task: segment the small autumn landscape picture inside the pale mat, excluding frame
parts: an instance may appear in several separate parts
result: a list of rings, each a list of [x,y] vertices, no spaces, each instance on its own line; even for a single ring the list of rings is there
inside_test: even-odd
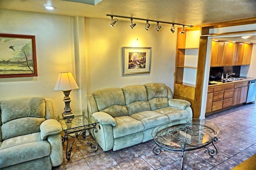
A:
[[[146,67],[145,52],[129,52],[128,69],[144,69]]]

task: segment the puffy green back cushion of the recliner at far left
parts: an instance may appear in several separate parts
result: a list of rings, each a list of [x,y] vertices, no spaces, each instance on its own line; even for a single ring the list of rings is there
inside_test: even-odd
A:
[[[2,140],[40,132],[45,121],[45,99],[20,98],[0,102]]]

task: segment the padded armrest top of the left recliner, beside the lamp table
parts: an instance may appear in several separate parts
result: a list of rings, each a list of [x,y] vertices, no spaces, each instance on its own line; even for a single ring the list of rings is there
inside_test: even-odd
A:
[[[40,135],[42,140],[46,140],[47,136],[58,134],[61,131],[61,125],[55,119],[48,119],[40,125]]]

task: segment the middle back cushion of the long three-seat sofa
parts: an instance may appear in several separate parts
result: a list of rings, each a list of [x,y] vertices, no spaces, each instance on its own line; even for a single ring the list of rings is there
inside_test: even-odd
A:
[[[125,104],[129,115],[142,111],[150,111],[145,86],[132,85],[124,87],[122,90],[124,92]]]

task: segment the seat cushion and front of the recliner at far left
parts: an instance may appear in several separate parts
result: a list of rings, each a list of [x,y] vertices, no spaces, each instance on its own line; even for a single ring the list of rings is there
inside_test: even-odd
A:
[[[6,139],[0,147],[0,168],[50,155],[50,144],[40,132]]]

